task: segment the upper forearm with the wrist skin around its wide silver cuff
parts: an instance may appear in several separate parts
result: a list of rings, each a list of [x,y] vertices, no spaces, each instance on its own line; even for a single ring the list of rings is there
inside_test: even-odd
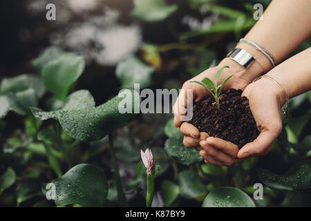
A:
[[[263,21],[259,20],[245,39],[252,40],[268,50],[276,63],[279,63],[311,35],[310,23],[311,1],[274,0],[265,10]],[[225,58],[220,62],[220,66],[232,67],[234,74],[241,79],[250,82],[272,68],[269,59],[253,46],[241,43],[236,48],[247,50],[256,62],[243,70],[235,61]]]

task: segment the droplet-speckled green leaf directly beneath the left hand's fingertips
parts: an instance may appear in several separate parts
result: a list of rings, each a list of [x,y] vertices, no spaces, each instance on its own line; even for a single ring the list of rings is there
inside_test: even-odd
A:
[[[169,157],[173,157],[180,164],[186,166],[203,160],[196,149],[187,148],[182,144],[182,138],[169,138],[164,144],[164,151]]]

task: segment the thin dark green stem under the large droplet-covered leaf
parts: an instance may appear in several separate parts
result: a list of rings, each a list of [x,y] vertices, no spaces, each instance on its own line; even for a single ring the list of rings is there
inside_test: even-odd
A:
[[[113,162],[113,171],[115,172],[115,184],[117,184],[117,198],[119,199],[120,206],[128,207],[129,203],[126,200],[126,196],[123,191],[123,186],[119,173],[119,166],[117,165],[117,160],[115,158],[112,133],[109,133],[108,137],[109,137],[109,151],[111,154],[111,160]]]

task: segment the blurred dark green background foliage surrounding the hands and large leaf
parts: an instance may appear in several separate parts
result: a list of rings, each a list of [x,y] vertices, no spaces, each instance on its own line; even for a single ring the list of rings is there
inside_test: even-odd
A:
[[[46,21],[47,3],[55,3],[57,21]],[[255,23],[254,3],[266,8],[270,1],[2,1],[0,205],[55,206],[41,186],[82,163],[106,175],[102,180],[108,180],[109,191],[100,202],[119,205],[108,138],[77,142],[53,119],[35,118],[29,106],[56,111],[68,104],[68,94],[81,89],[91,93],[86,106],[99,106],[134,82],[152,90],[180,88],[234,48]],[[294,53],[310,45],[309,38]],[[73,62],[73,75],[50,78],[53,68],[68,68],[66,61]],[[196,151],[185,149],[172,115],[135,117],[114,137],[129,204],[144,205],[140,149],[151,148],[161,166],[153,206],[311,206],[310,105],[310,92],[291,99],[288,124],[272,151],[230,168],[203,164]],[[251,200],[258,182],[264,199]]]

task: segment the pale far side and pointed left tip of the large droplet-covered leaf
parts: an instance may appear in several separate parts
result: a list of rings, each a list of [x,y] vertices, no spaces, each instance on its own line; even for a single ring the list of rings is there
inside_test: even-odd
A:
[[[40,108],[30,108],[32,114],[41,119],[58,119],[64,111],[76,111],[92,108],[95,106],[93,96],[88,90],[77,90],[66,98],[64,106],[57,111],[42,111]]]

